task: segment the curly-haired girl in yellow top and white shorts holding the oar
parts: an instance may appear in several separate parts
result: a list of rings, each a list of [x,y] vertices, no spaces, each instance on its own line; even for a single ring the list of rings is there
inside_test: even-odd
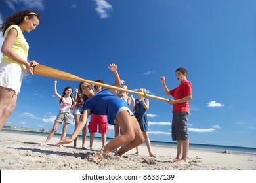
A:
[[[33,75],[33,66],[38,64],[34,60],[28,61],[29,46],[23,33],[35,30],[39,22],[37,12],[24,10],[5,18],[0,26],[5,39],[0,62],[0,130],[16,107],[25,72]]]

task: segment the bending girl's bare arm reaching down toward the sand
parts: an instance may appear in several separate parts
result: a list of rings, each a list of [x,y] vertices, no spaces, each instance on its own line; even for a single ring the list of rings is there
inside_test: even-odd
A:
[[[87,118],[90,114],[91,110],[83,110],[83,115],[81,120],[79,121],[77,127],[75,128],[75,131],[72,133],[71,137],[69,139],[63,139],[62,141],[59,141],[56,143],[56,145],[62,145],[62,144],[70,144],[74,139],[79,135],[79,133],[82,131],[83,127],[85,127],[85,124],[87,122]]]

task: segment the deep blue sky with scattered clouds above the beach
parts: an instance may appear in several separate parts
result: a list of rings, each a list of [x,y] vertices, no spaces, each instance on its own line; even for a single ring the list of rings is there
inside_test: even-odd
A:
[[[1,0],[0,18],[18,10],[41,15],[24,33],[28,59],[88,80],[113,84],[116,63],[130,90],[169,98],[175,69],[192,82],[190,143],[256,148],[256,1],[254,0]],[[0,38],[2,44],[3,37]],[[51,129],[58,114],[54,79],[26,75],[6,125]],[[79,82],[58,80],[58,92]],[[74,96],[74,95],[73,95]],[[150,99],[152,141],[171,141],[171,105]],[[114,137],[109,125],[108,137]],[[61,127],[58,128],[61,131]],[[68,133],[74,125],[68,126]]]

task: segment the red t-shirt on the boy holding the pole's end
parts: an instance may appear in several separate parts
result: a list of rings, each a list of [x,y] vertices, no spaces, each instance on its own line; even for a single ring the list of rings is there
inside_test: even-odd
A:
[[[170,95],[173,96],[173,99],[182,99],[187,95],[192,95],[192,84],[185,80],[181,82],[179,86],[169,91]],[[188,102],[186,103],[175,103],[173,104],[173,112],[189,112]]]

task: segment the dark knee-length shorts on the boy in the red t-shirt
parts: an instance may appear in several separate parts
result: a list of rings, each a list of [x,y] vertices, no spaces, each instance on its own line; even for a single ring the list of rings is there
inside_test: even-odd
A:
[[[173,112],[171,124],[171,138],[173,141],[188,140],[189,112]]]

